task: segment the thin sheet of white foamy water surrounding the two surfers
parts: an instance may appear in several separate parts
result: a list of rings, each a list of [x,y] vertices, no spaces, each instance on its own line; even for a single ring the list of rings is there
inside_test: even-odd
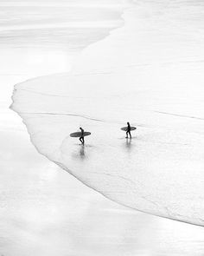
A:
[[[203,225],[203,10],[136,1],[69,74],[16,85],[12,108],[35,148],[124,206]],[[69,136],[80,126],[92,132],[84,147]]]

